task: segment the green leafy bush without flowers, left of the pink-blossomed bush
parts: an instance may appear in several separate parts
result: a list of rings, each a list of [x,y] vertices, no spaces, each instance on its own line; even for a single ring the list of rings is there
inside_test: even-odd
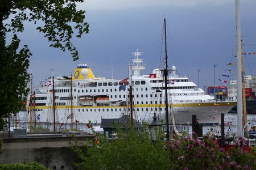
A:
[[[81,163],[77,169],[170,169],[170,156],[163,149],[163,143],[152,145],[148,129],[136,131],[134,128],[124,132],[117,129],[118,139],[100,136],[100,143],[94,147],[74,147]],[[158,163],[156,166],[155,163]]]

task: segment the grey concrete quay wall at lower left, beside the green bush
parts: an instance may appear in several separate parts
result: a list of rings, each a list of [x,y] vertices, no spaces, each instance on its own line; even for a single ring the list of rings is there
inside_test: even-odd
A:
[[[79,146],[88,145],[93,135],[76,137]],[[73,169],[77,155],[69,148],[73,137],[3,138],[0,163],[38,162],[51,169]]]

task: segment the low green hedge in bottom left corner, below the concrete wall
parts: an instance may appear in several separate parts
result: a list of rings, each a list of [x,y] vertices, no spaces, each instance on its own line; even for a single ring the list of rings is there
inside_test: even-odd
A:
[[[0,164],[0,169],[3,170],[44,170],[46,167],[44,167],[42,164],[39,163],[22,163],[22,164]]]

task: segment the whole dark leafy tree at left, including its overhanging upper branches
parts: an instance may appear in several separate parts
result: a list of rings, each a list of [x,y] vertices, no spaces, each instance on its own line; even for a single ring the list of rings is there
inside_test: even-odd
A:
[[[23,22],[40,25],[36,29],[51,42],[49,46],[69,50],[73,61],[79,53],[71,39],[89,32],[84,22],[85,11],[76,10],[83,0],[0,0],[0,118],[17,113],[22,105],[22,95],[27,95],[29,76],[27,69],[32,56],[27,45],[20,47],[17,33],[23,32]],[[76,31],[76,32],[74,32]],[[6,45],[6,35],[12,35]],[[2,127],[2,126],[1,126]]]

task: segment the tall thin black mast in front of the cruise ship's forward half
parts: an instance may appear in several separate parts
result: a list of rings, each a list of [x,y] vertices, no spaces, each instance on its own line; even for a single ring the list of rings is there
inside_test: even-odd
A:
[[[165,91],[165,104],[166,104],[166,138],[167,141],[170,139],[170,133],[169,133],[169,116],[168,116],[168,91],[167,91],[167,75],[168,75],[168,66],[167,66],[167,43],[166,43],[166,18],[164,18],[164,42],[166,47],[166,58],[164,60],[164,87],[166,88]]]

